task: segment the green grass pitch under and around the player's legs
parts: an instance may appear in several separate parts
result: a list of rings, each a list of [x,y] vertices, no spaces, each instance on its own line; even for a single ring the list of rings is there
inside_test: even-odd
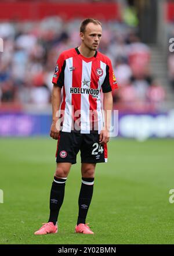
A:
[[[96,167],[86,221],[94,235],[75,234],[80,159],[66,183],[59,233],[34,236],[48,221],[55,172],[51,138],[0,140],[0,244],[173,244],[174,140],[111,140],[108,163]]]

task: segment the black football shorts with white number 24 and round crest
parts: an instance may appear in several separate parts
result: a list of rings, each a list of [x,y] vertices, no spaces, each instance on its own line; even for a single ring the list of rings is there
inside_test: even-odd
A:
[[[107,144],[99,144],[99,134],[67,133],[60,131],[57,141],[56,162],[76,163],[81,151],[81,163],[107,162]]]

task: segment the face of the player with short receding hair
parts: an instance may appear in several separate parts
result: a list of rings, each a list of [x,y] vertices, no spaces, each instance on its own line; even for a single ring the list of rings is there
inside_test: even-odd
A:
[[[99,24],[88,23],[85,32],[80,33],[84,45],[91,51],[96,51],[102,37],[102,27]]]

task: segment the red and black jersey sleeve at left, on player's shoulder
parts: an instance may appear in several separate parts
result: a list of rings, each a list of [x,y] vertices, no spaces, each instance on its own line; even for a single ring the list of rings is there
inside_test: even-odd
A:
[[[55,73],[53,74],[52,83],[57,84],[60,88],[64,85],[64,69],[66,66],[66,61],[64,55],[61,54],[57,59]]]

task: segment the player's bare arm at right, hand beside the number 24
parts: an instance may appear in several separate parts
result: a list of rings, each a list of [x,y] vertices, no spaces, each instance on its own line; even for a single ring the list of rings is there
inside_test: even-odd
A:
[[[100,132],[100,144],[107,143],[110,139],[110,122],[111,122],[111,110],[113,109],[113,95],[109,93],[103,94],[103,110],[104,110],[104,127]]]

